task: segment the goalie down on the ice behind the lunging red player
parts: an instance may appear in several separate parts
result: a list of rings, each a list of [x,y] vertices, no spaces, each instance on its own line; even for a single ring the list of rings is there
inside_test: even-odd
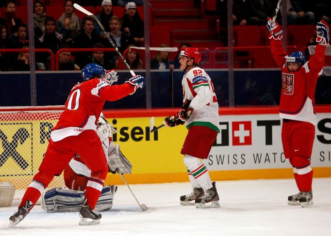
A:
[[[112,141],[112,134],[116,130],[100,115],[97,133],[102,142],[110,172],[116,171],[124,174],[131,173],[132,165]],[[48,190],[42,197],[42,207],[47,212],[79,211],[82,206],[82,196],[85,194],[86,185],[91,170],[87,168],[78,155],[73,157],[64,170],[66,188]],[[113,205],[114,194],[117,186],[104,186],[98,199],[95,210],[110,209]]]

